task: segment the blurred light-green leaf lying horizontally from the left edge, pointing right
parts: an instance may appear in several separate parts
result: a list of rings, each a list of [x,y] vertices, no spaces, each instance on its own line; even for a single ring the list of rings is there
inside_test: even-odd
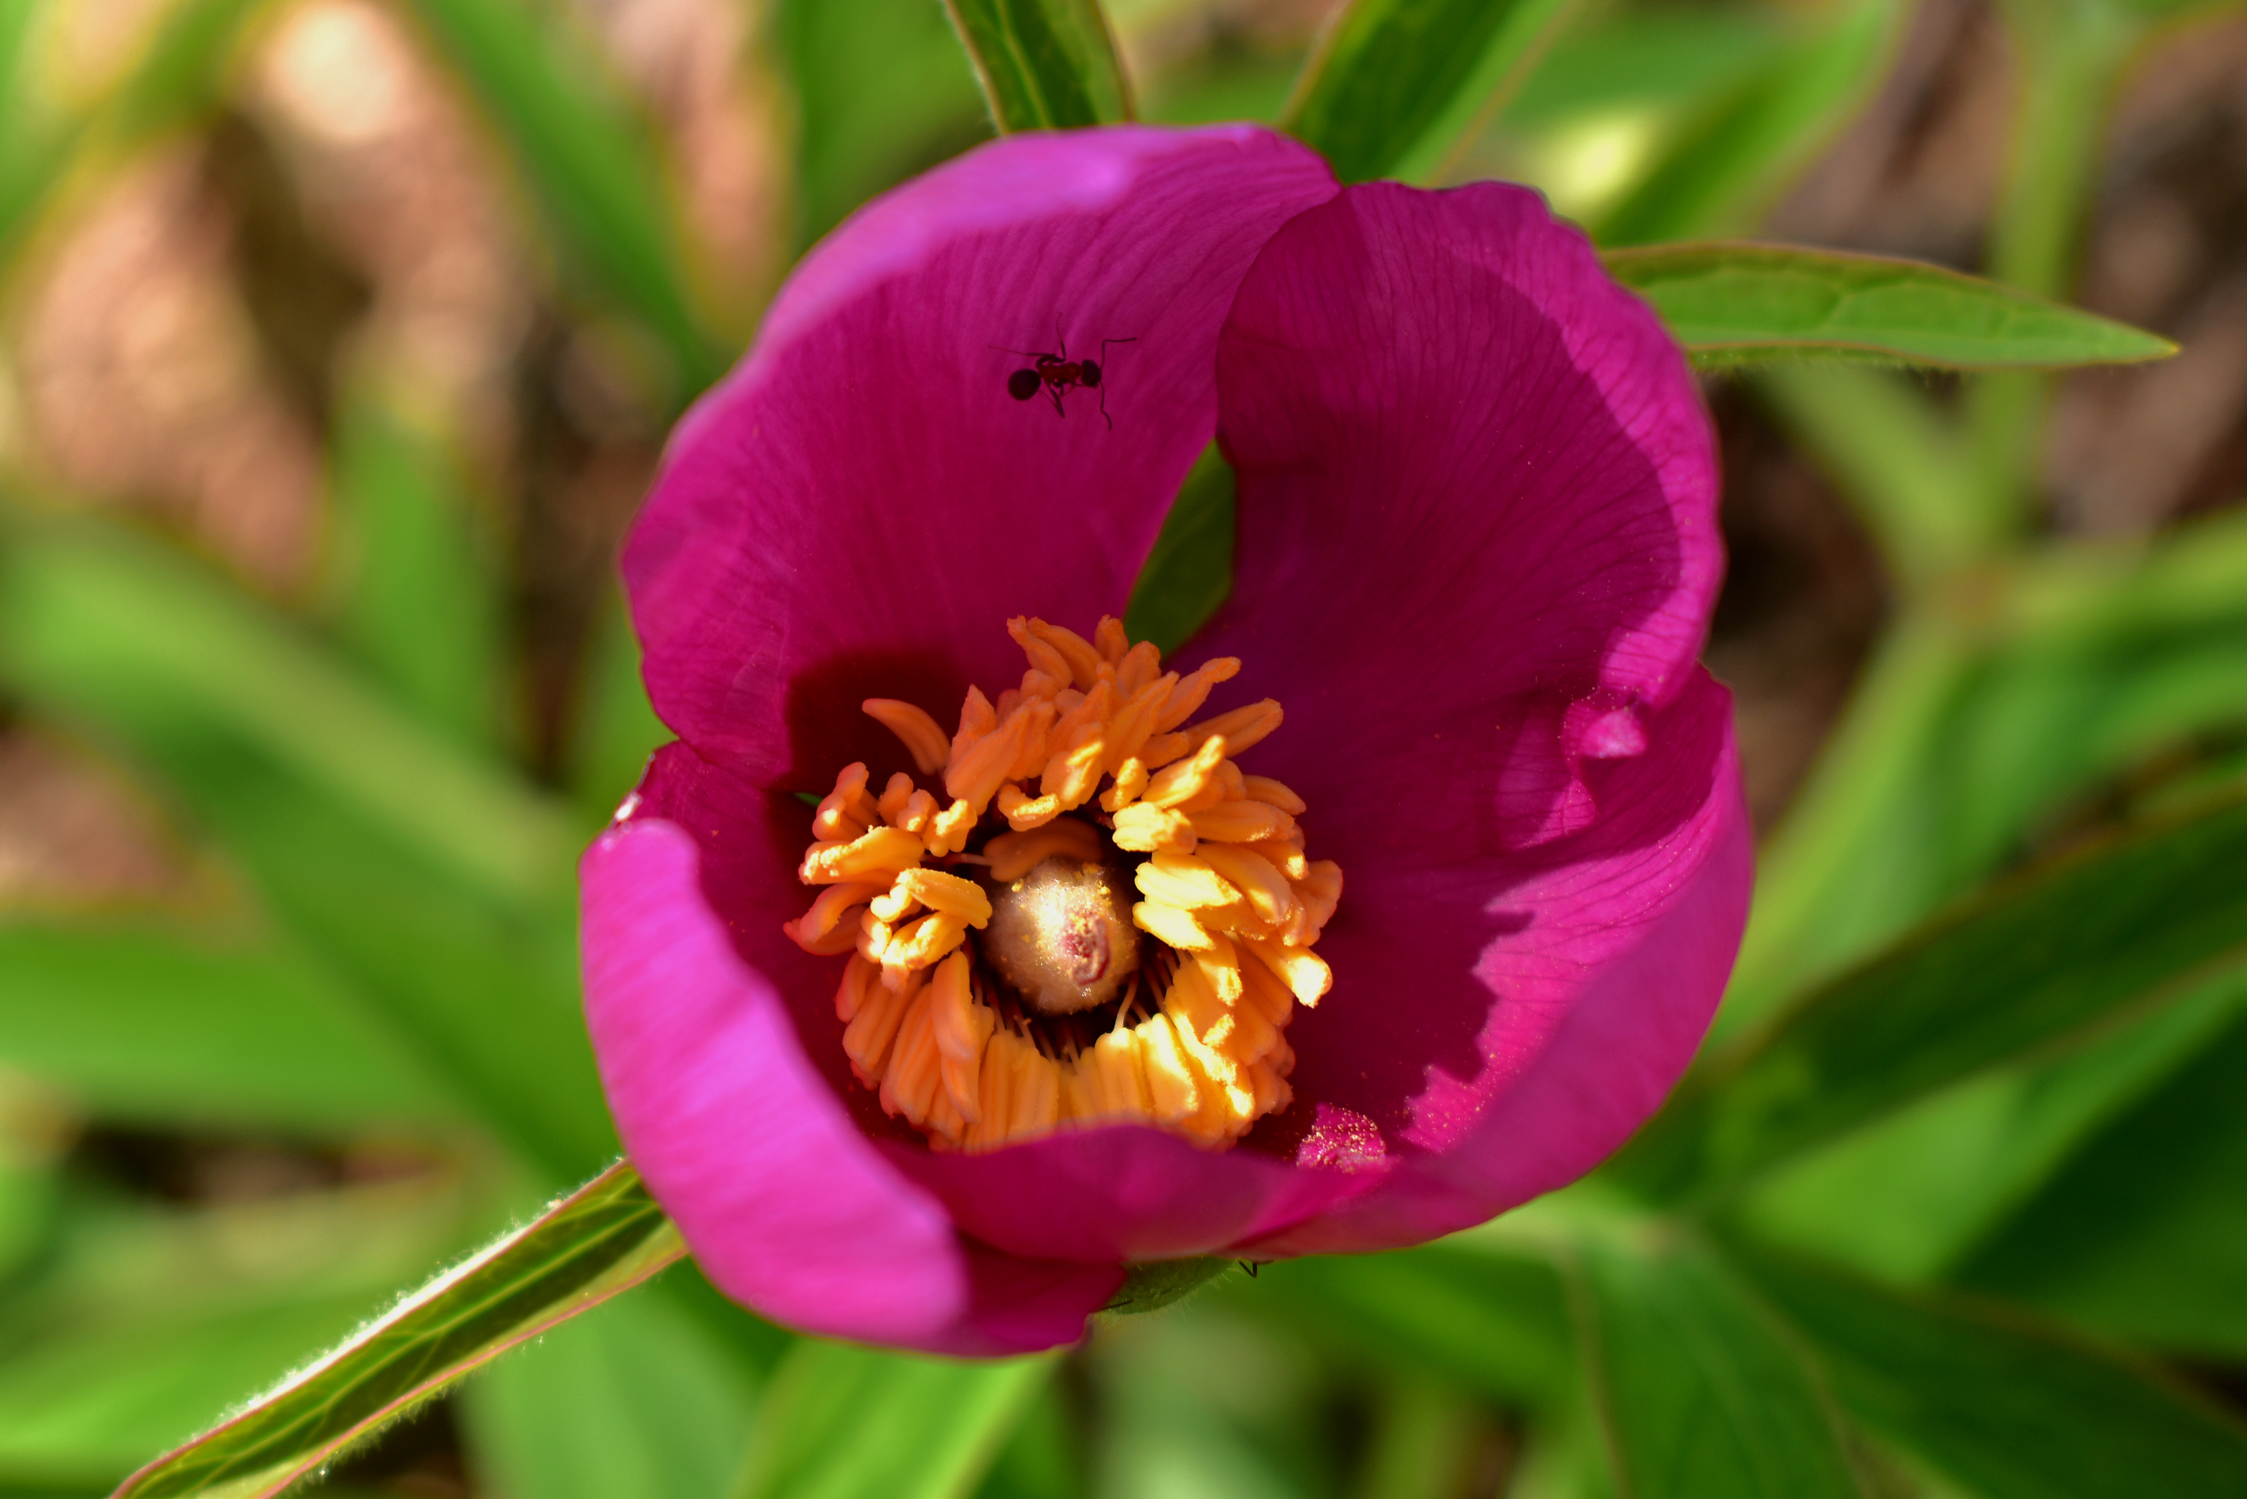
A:
[[[157,926],[0,926],[0,1068],[103,1119],[348,1128],[461,1119],[312,964]]]

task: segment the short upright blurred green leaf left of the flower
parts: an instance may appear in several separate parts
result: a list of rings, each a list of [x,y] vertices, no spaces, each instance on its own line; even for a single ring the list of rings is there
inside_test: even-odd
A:
[[[339,632],[434,728],[490,748],[503,699],[499,596],[461,474],[434,434],[369,393],[337,427]]]

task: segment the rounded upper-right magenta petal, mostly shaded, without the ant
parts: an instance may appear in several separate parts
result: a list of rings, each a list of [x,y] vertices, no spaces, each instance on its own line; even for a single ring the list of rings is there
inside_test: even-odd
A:
[[[1297,216],[1218,387],[1240,472],[1218,634],[1301,683],[1290,724],[1321,692],[1438,730],[1427,692],[1609,715],[1685,688],[1723,573],[1714,436],[1661,321],[1537,193],[1375,182]]]

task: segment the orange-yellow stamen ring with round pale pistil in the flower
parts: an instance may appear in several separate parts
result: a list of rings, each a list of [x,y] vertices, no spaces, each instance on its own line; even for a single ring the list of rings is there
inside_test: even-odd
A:
[[[1022,685],[968,688],[948,739],[867,699],[946,800],[845,766],[798,870],[825,890],[784,930],[849,953],[852,1072],[939,1151],[1097,1124],[1229,1146],[1288,1106],[1281,1032],[1332,984],[1312,944],[1341,870],[1303,856],[1294,791],[1234,764],[1281,706],[1186,724],[1240,661],[1164,672],[1112,618],[1007,632]]]

